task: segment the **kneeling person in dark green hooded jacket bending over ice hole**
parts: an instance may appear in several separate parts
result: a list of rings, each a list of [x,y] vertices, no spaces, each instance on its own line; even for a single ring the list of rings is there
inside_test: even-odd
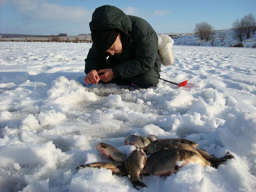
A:
[[[159,82],[158,38],[147,21],[104,5],[95,9],[89,25],[93,44],[85,59],[86,84],[148,88]]]

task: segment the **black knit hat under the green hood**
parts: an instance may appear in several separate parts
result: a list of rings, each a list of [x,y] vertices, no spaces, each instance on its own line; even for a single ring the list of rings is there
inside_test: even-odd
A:
[[[95,48],[100,52],[107,51],[115,43],[118,32],[118,29],[93,30],[91,36]]]

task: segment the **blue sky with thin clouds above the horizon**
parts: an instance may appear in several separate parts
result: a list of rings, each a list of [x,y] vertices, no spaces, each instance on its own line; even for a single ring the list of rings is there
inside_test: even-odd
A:
[[[0,0],[0,33],[90,33],[93,11],[105,4],[147,20],[157,33],[190,33],[201,21],[228,29],[234,20],[256,13],[256,0]]]

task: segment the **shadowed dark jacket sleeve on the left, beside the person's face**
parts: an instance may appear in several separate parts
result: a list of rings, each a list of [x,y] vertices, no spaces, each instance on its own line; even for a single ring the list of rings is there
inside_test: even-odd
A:
[[[92,69],[96,71],[102,69],[102,64],[106,61],[107,57],[108,55],[106,53],[97,51],[92,44],[92,48],[89,50],[87,58],[84,60],[84,72],[88,74]]]

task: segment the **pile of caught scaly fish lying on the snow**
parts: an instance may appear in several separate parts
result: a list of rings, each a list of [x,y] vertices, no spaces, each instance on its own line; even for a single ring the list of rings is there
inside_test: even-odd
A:
[[[137,189],[146,187],[141,181],[141,175],[170,175],[176,173],[189,162],[212,166],[217,168],[227,159],[234,158],[229,152],[223,157],[209,155],[194,141],[175,138],[159,139],[155,135],[148,137],[141,135],[129,135],[124,138],[126,145],[134,145],[137,150],[128,156],[106,143],[98,143],[95,148],[113,162],[95,162],[83,164],[76,169],[84,167],[107,168],[112,173],[120,173],[129,176],[133,186]]]

